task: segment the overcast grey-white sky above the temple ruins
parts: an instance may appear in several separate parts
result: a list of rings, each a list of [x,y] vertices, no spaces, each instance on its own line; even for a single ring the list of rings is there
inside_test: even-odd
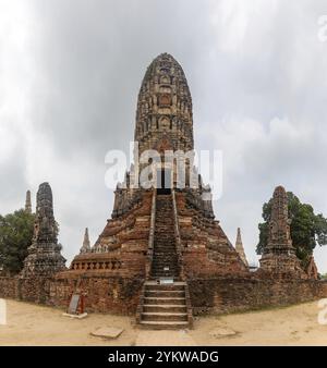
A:
[[[85,226],[95,242],[112,210],[105,155],[129,149],[146,66],[169,52],[196,148],[223,152],[215,211],[231,242],[241,226],[255,259],[278,184],[327,216],[324,14],[326,0],[0,0],[0,213],[48,181],[64,256]],[[315,255],[327,272],[327,246]]]

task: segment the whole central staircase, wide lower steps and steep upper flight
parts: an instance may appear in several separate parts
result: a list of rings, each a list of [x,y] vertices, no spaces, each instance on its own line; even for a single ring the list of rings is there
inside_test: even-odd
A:
[[[172,279],[162,283],[161,279]],[[162,281],[162,280],[161,280]],[[180,280],[171,194],[156,198],[154,253],[150,277],[144,283],[136,315],[142,328],[186,329],[193,326],[186,282]]]

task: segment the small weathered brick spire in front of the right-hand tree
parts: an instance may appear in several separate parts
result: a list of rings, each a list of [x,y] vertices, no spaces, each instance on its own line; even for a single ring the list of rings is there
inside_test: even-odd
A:
[[[288,216],[288,196],[282,186],[275,188],[268,225],[268,242],[264,247],[261,269],[279,274],[305,278],[305,273],[295,255],[295,248],[292,245]]]

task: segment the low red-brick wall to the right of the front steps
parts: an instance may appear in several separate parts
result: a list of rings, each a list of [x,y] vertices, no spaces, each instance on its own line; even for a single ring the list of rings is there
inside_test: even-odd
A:
[[[256,278],[189,280],[194,315],[231,312],[327,297],[327,282]]]

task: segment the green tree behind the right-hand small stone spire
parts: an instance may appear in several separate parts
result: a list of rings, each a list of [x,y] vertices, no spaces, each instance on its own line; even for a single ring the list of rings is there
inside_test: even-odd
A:
[[[259,242],[257,254],[263,254],[268,242],[268,223],[271,214],[272,198],[263,206],[264,222],[258,224]],[[288,192],[289,218],[291,220],[291,237],[295,254],[303,268],[306,268],[316,245],[327,244],[327,219],[322,213],[315,214],[311,205],[302,204],[292,193]]]

